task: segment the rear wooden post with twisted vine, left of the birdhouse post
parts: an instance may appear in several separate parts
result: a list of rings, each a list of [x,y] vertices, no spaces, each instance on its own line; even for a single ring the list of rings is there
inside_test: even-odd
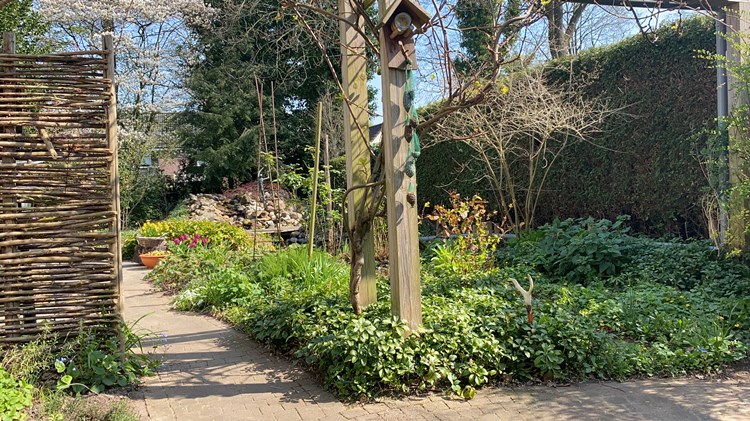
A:
[[[346,150],[346,186],[362,185],[370,179],[369,114],[367,106],[367,57],[365,39],[352,25],[362,23],[351,0],[339,0],[339,33],[341,36],[341,79],[349,108],[344,106],[344,147]],[[359,19],[359,21],[358,21]],[[365,189],[352,192],[348,204],[349,228],[355,226],[358,214],[370,204]],[[372,228],[372,227],[371,227]],[[359,286],[360,307],[377,301],[375,276],[375,237],[372,229],[362,249],[364,266]]]

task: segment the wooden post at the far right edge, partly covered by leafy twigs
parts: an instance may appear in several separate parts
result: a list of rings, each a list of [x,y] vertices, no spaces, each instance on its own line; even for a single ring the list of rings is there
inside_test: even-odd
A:
[[[727,34],[731,37],[733,34],[750,34],[750,4],[748,3],[729,3],[727,6],[726,22],[727,22]],[[746,42],[742,40],[741,42]],[[727,63],[739,64],[742,60],[740,52],[737,51],[731,43],[727,45]],[[745,105],[745,95],[742,89],[738,90],[735,86],[737,84],[736,78],[732,74],[727,75],[729,82],[728,92],[728,114],[732,115],[734,110]],[[733,142],[733,138],[739,136],[735,129],[729,130],[729,143]],[[743,174],[742,167],[744,162],[737,156],[737,153],[729,148],[729,183],[731,186],[736,186],[741,180],[745,179],[750,174]],[[750,201],[743,198],[741,192],[732,192],[729,197],[729,232],[728,241],[729,244],[738,249],[746,250],[750,246],[750,238],[745,232],[747,227],[747,216],[746,210],[750,209]]]

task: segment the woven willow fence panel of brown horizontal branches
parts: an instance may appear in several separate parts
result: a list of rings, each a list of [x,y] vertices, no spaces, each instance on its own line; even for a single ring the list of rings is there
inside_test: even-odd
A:
[[[0,54],[0,345],[117,327],[119,200],[105,49]]]

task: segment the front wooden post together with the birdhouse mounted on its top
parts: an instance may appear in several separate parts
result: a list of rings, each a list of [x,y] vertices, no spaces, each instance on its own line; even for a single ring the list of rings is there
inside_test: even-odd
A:
[[[378,10],[391,312],[416,330],[422,324],[422,301],[412,71],[417,66],[414,34],[425,29],[430,15],[416,0],[378,0]]]

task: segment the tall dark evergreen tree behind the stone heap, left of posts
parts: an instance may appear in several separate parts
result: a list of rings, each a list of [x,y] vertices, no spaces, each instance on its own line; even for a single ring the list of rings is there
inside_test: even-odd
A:
[[[211,27],[194,28],[196,45],[190,55],[195,64],[186,80],[194,111],[183,116],[189,125],[183,133],[183,151],[189,180],[218,190],[225,182],[233,187],[257,175],[258,147],[263,144],[259,142],[263,136],[259,87],[266,118],[272,103],[276,107],[276,134],[285,162],[300,164],[304,147],[314,138],[308,108],[334,85],[315,41],[281,2],[207,3],[218,12]],[[333,2],[326,4],[321,7]],[[335,20],[299,12],[319,33],[337,33]],[[328,45],[327,53],[333,63],[338,62],[337,43]]]

